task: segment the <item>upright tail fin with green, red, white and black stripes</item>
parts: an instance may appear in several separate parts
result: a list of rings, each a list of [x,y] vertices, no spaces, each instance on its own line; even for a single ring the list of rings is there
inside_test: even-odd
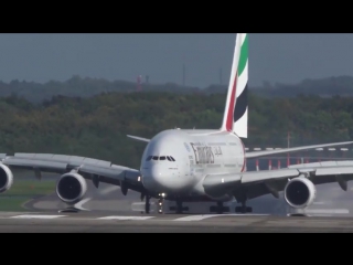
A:
[[[237,33],[231,80],[221,130],[247,138],[248,34]]]

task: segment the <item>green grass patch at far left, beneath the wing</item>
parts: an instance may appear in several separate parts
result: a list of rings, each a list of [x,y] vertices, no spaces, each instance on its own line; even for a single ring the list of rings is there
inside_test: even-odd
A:
[[[0,193],[0,211],[26,211],[22,204],[41,195],[55,191],[54,180],[15,179],[10,190]]]

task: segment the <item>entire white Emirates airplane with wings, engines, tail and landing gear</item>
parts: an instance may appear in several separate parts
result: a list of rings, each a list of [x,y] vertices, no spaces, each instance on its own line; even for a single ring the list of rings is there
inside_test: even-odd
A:
[[[246,159],[275,153],[351,145],[353,141],[303,146],[279,150],[246,152],[242,138],[247,138],[248,34],[237,33],[231,80],[223,121],[220,129],[168,129],[151,139],[128,136],[145,141],[140,169],[113,165],[109,161],[53,153],[1,155],[0,192],[13,183],[12,169],[56,172],[57,197],[68,205],[84,199],[87,180],[96,188],[99,182],[119,186],[126,195],[137,191],[150,212],[150,199],[176,203],[181,213],[183,202],[214,202],[211,211],[228,211],[223,203],[236,200],[235,212],[252,212],[246,202],[265,194],[279,198],[284,192],[291,208],[307,208],[315,198],[315,184],[336,182],[347,189],[353,179],[353,162],[329,161],[290,166],[278,170],[245,171]]]

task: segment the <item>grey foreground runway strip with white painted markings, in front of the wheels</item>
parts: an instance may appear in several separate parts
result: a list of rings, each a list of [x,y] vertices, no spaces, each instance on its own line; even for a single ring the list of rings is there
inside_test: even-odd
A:
[[[351,218],[270,215],[101,215],[0,213],[1,233],[304,233],[353,232]]]

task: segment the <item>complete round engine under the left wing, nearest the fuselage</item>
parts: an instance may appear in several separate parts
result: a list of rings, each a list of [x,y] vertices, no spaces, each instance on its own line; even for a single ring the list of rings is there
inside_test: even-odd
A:
[[[87,192],[87,182],[78,173],[63,174],[56,184],[57,197],[67,204],[75,204],[79,202]]]

